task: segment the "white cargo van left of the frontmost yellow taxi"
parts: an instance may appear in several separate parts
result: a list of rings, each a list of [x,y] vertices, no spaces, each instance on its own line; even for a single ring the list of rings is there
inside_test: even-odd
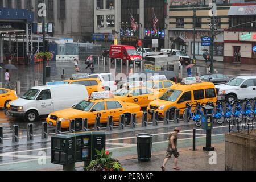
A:
[[[84,85],[37,86],[11,102],[9,113],[13,117],[35,122],[39,116],[68,109],[85,98],[88,98],[88,92]]]

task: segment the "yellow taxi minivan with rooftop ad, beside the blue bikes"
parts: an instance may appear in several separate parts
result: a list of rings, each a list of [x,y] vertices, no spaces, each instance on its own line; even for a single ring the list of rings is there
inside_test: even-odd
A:
[[[152,115],[158,111],[159,117],[164,117],[164,111],[170,110],[170,119],[174,119],[175,109],[183,114],[186,104],[189,105],[216,102],[217,93],[213,83],[201,82],[199,77],[184,78],[181,84],[172,85],[158,100],[150,102],[147,113]],[[192,107],[192,111],[195,108]]]

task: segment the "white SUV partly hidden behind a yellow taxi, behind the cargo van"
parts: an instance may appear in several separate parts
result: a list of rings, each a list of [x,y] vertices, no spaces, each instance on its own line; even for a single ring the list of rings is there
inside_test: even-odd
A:
[[[104,89],[107,91],[115,91],[117,90],[117,82],[115,81],[114,76],[111,73],[95,73],[95,74],[89,74],[90,78],[98,78],[102,85],[104,86]]]

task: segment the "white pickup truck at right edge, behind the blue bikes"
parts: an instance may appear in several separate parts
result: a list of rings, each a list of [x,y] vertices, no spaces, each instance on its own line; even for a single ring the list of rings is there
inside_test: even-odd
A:
[[[238,76],[226,82],[216,85],[218,100],[229,101],[234,104],[236,99],[256,97],[256,76]]]

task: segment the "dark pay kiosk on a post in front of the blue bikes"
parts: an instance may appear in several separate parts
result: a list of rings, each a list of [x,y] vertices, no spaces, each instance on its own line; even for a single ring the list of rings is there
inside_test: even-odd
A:
[[[212,129],[213,129],[213,107],[209,105],[202,106],[204,115],[202,118],[202,129],[206,130],[206,146],[204,151],[214,151],[212,147]]]

